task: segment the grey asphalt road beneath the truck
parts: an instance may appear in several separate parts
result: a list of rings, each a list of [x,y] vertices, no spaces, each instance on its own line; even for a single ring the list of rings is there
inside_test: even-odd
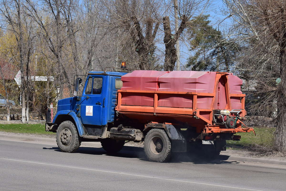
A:
[[[0,138],[0,190],[284,191],[285,180],[283,165],[194,164],[186,155],[153,163],[138,147],[124,146],[112,155],[87,146],[63,153],[53,143]]]

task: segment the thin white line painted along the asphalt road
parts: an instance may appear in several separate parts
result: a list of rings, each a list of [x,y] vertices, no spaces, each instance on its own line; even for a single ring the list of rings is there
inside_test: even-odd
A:
[[[40,163],[40,162],[32,162],[32,161],[23,161],[23,160],[15,160],[15,159],[7,159],[7,158],[1,158],[4,160],[11,160],[11,161],[18,161],[18,162],[27,162],[27,163],[34,163],[34,164],[43,164],[43,165],[50,165],[50,166],[59,166],[59,167],[65,167],[65,168],[76,168],[81,170],[93,170],[98,172],[108,172],[108,173],[114,173],[114,174],[125,174],[125,175],[131,175],[131,176],[139,176],[144,178],[155,178],[155,179],[161,179],[161,180],[171,180],[176,182],[186,182],[186,183],[193,183],[193,184],[202,184],[202,185],[208,185],[208,186],[219,186],[219,187],[225,187],[225,188],[236,188],[236,189],[242,189],[242,190],[254,190],[254,191],[263,191],[263,190],[255,190],[255,189],[249,189],[249,188],[240,188],[240,187],[233,187],[233,186],[223,186],[218,184],[207,184],[207,183],[201,183],[201,182],[191,182],[186,180],[176,180],[176,179],[169,179],[169,178],[160,178],[160,177],[154,177],[154,176],[144,176],[144,175],[138,175],[138,174],[129,174],[125,172],[114,172],[114,171],[107,171],[107,170],[97,170],[97,169],[90,169],[90,168],[80,168],[80,167],[74,167],[74,166],[63,166],[63,165],[57,165],[57,164],[47,164],[47,163]]]

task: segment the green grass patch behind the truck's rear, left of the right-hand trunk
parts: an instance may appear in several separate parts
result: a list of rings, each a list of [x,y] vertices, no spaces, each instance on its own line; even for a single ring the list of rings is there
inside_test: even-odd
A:
[[[236,133],[241,135],[240,141],[227,141],[227,146],[232,148],[266,148],[273,146],[273,135],[275,128],[270,127],[254,127],[256,136],[253,132],[250,133]]]

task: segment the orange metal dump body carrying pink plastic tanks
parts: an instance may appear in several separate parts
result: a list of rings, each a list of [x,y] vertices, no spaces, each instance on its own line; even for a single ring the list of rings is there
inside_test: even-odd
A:
[[[240,117],[246,115],[242,80],[232,73],[138,70],[122,76],[121,80],[123,87],[118,90],[116,111],[130,119],[144,124],[184,123],[196,127],[198,133],[253,131],[241,128],[239,120],[232,129],[214,123],[216,110],[235,109],[230,114],[234,118],[235,113]]]

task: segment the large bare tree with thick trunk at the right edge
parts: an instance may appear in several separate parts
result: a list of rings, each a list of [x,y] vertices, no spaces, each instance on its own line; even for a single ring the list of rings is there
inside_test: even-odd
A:
[[[274,149],[286,152],[286,2],[226,3],[235,13],[235,36],[247,45],[238,66],[242,74],[253,76],[259,98],[263,96],[257,104],[264,111],[277,102],[277,113],[272,112],[277,117]]]

